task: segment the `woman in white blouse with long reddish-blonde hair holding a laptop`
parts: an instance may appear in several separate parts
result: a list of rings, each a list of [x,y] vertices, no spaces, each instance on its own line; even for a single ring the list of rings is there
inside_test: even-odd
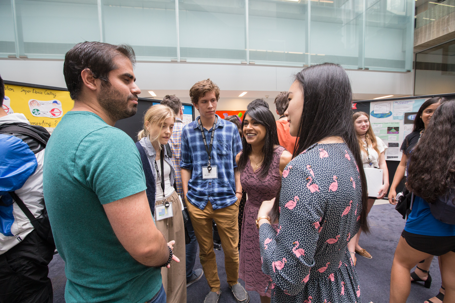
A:
[[[374,204],[374,200],[384,198],[389,189],[389,171],[385,163],[384,151],[387,149],[385,143],[374,135],[373,129],[369,123],[369,116],[365,112],[356,112],[353,115],[354,127],[359,139],[360,150],[362,152],[362,160],[364,168],[382,169],[383,185],[378,193],[368,193],[368,213]],[[355,253],[365,257],[373,258],[364,248],[359,245],[361,229],[354,237],[351,238],[348,244],[349,252],[354,257],[354,265],[357,261]]]

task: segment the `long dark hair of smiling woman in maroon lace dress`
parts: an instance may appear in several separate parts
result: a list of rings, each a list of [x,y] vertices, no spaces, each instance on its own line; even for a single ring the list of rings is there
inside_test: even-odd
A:
[[[262,162],[260,169],[260,178],[264,178],[268,174],[268,170],[270,169],[270,164],[272,164],[273,160],[273,151],[279,145],[278,142],[278,132],[277,132],[277,124],[275,122],[275,118],[273,117],[272,112],[264,106],[256,106],[251,109],[248,109],[245,114],[243,115],[243,121],[245,120],[246,115],[250,117],[250,119],[255,120],[261,125],[265,126],[267,129],[267,133],[265,134],[265,143],[262,148],[262,153],[264,155],[264,160]],[[238,169],[243,170],[247,165],[248,158],[251,154],[251,144],[247,143],[245,136],[242,138],[243,144],[243,152],[240,155],[240,159],[238,159]]]

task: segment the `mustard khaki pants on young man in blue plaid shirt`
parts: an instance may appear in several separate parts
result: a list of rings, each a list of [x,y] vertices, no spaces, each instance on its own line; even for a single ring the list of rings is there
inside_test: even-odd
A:
[[[231,206],[213,210],[212,204],[208,201],[204,210],[201,210],[187,202],[194,234],[199,243],[202,269],[212,292],[220,290],[217,261],[213,251],[212,220],[217,223],[221,239],[227,283],[229,286],[238,283],[238,204],[237,201]]]

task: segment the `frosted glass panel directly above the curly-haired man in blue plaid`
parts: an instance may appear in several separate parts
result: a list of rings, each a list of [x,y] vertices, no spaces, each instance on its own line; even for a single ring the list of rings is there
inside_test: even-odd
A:
[[[181,59],[246,60],[244,0],[179,1],[179,24]]]

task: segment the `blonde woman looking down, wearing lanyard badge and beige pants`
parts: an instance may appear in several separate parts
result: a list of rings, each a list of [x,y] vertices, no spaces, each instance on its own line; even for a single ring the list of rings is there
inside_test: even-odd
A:
[[[183,225],[183,204],[175,191],[174,167],[171,154],[165,145],[174,127],[174,111],[166,105],[150,107],[144,116],[144,128],[137,134],[137,149],[141,154],[142,167],[146,177],[147,198],[153,218],[166,241],[175,241],[173,253],[180,257],[180,263],[162,268],[162,282],[167,303],[187,302],[187,278],[185,266],[185,228]]]

